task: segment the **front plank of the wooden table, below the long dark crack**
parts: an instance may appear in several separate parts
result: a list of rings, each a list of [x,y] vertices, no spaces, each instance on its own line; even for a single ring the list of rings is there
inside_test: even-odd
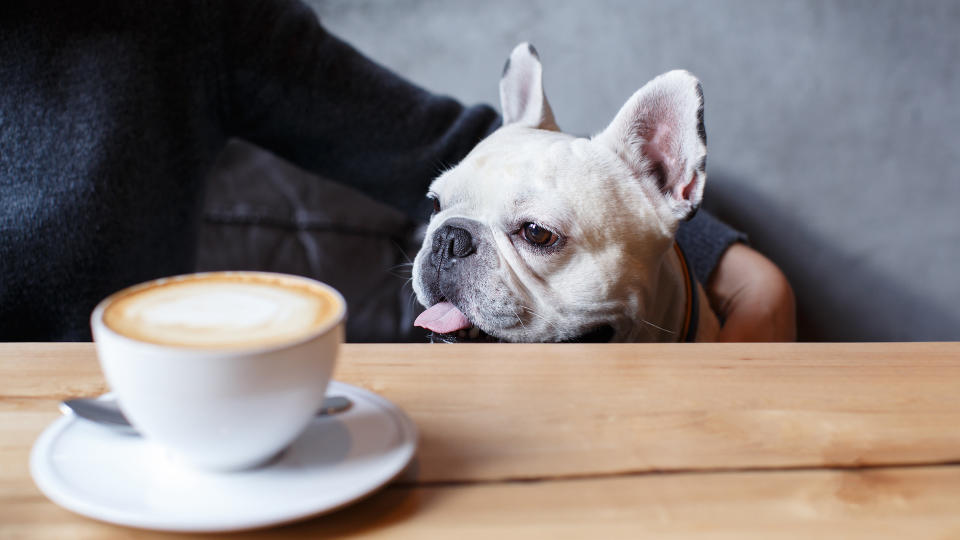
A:
[[[81,518],[39,497],[2,503],[5,540],[168,537]],[[957,467],[651,474],[388,487],[333,514],[231,537],[947,539],[960,537],[957,508]]]

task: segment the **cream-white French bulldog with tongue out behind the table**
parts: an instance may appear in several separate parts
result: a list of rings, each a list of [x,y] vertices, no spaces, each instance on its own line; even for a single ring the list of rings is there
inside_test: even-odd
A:
[[[522,43],[500,102],[503,126],[430,186],[415,324],[444,340],[714,339],[717,317],[674,240],[707,178],[699,81],[660,75],[606,129],[575,137],[557,127],[539,56]]]

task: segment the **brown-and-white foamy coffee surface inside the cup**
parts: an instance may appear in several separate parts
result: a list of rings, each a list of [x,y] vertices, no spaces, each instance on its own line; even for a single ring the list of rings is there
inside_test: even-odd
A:
[[[138,341],[242,348],[296,341],[319,330],[340,309],[338,298],[306,281],[216,273],[121,292],[104,310],[103,322]]]

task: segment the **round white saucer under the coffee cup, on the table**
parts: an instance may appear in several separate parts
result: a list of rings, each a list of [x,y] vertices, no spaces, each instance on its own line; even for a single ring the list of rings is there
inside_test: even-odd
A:
[[[237,473],[182,466],[138,436],[64,416],[33,446],[30,473],[60,506],[119,525],[222,532],[315,516],[392,480],[413,457],[413,422],[390,401],[344,383],[346,412],[314,420],[270,464]]]

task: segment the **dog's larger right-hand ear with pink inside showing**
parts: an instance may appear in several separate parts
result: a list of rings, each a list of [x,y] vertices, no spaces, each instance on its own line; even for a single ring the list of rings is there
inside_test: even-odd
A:
[[[707,180],[703,90],[696,77],[677,70],[648,82],[595,139],[639,178],[653,177],[678,219],[693,217]]]

